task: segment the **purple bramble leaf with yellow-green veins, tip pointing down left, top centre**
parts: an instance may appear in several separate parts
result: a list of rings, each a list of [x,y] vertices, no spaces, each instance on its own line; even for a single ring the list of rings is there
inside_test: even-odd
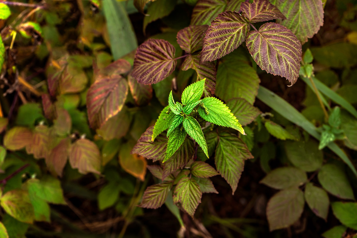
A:
[[[218,14],[211,26],[208,26],[203,39],[201,61],[213,61],[237,49],[246,39],[249,28],[249,24],[238,12],[225,11]]]

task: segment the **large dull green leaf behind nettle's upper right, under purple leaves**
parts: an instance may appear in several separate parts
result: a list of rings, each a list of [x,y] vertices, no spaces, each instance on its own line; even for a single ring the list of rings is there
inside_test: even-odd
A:
[[[219,61],[215,95],[223,101],[241,97],[253,105],[260,79],[240,47]],[[227,90],[229,89],[229,90]]]

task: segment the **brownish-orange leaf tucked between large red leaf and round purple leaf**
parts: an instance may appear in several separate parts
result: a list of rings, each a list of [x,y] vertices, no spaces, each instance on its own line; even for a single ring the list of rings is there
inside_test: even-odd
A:
[[[128,83],[131,95],[133,96],[136,105],[147,105],[152,98],[151,85],[138,83],[131,75],[128,75]]]

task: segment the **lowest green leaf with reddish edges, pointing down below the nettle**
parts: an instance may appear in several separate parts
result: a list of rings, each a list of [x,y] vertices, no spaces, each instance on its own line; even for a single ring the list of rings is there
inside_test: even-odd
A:
[[[202,192],[194,178],[183,177],[178,181],[174,190],[174,202],[180,203],[181,207],[191,217],[201,203]]]

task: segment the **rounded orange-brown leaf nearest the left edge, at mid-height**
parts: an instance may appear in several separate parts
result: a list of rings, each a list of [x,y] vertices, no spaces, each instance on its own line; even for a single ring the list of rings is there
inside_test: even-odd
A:
[[[32,142],[32,131],[26,127],[12,127],[4,136],[4,146],[8,150],[20,150]]]

